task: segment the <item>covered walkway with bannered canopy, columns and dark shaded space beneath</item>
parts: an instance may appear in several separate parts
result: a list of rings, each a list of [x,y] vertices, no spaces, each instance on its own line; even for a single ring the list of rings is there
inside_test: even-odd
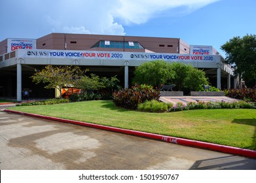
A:
[[[166,62],[181,62],[206,72],[212,86],[223,89],[236,88],[236,79],[229,65],[221,56],[194,56],[191,54],[139,53],[139,52],[96,52],[88,50],[16,50],[0,56],[0,97],[16,97],[22,101],[22,92],[28,90],[33,97],[54,95],[43,85],[35,86],[30,76],[35,69],[46,65],[77,65],[90,68],[97,75],[117,75],[124,88],[131,86],[134,68],[142,63],[162,59]],[[234,82],[231,82],[233,80]],[[224,87],[223,87],[224,86]]]

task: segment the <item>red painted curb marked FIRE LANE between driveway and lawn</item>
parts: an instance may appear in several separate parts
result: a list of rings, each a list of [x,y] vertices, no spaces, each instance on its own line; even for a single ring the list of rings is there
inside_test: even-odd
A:
[[[235,155],[239,155],[239,156],[245,156],[248,158],[256,158],[256,150],[247,150],[247,149],[236,148],[236,147],[232,147],[232,146],[224,146],[224,145],[212,144],[212,143],[208,143],[208,142],[194,141],[194,140],[189,140],[189,139],[182,139],[182,138],[177,138],[177,137],[158,135],[158,134],[154,134],[154,133],[146,133],[146,132],[135,131],[135,130],[130,130],[130,129],[121,129],[118,127],[109,127],[109,126],[105,126],[105,125],[90,124],[90,123],[86,123],[86,122],[79,122],[79,121],[75,121],[75,120],[66,120],[66,119],[62,119],[62,118],[43,116],[40,114],[31,114],[31,113],[20,112],[20,111],[15,111],[15,110],[5,109],[4,111],[12,112],[15,114],[23,114],[26,116],[31,116],[31,117],[36,117],[36,118],[43,118],[46,120],[54,120],[57,122],[64,122],[64,123],[68,123],[68,124],[76,124],[76,125],[82,125],[82,126],[86,126],[86,127],[93,127],[96,129],[114,131],[114,132],[118,132],[118,133],[124,133],[126,135],[135,135],[138,137],[146,137],[149,139],[156,139],[159,141],[170,142],[170,143],[180,144],[180,145],[184,145],[184,146],[192,146],[192,147],[196,147],[196,148],[215,150],[218,152],[235,154]]]

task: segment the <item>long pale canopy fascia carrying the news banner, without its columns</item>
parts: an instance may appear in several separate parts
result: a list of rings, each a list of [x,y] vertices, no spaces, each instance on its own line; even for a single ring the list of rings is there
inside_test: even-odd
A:
[[[161,59],[167,62],[180,61],[198,68],[217,68],[221,63],[221,56],[192,55],[192,54],[164,54],[141,52],[96,52],[74,50],[16,50],[16,61],[3,59],[0,68],[10,64],[23,63],[31,65],[130,65],[139,66],[147,61]],[[5,58],[10,58],[6,57]],[[11,63],[10,63],[10,62]]]

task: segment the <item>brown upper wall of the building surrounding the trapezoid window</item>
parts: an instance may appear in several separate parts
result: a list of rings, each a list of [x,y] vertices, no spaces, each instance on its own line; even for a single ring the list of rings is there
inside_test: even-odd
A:
[[[177,38],[161,38],[161,37],[134,37],[134,36],[118,36],[118,35],[86,35],[86,34],[64,34],[51,33],[37,39],[38,49],[64,50],[66,42],[66,50],[108,50],[122,52],[123,48],[92,48],[98,41],[132,41],[139,42],[146,50],[160,53],[175,53],[179,46],[180,39]],[[184,44],[185,42],[182,41]],[[189,45],[186,43],[186,45]],[[139,49],[125,49],[126,52],[145,52]],[[182,50],[184,54],[189,54]]]

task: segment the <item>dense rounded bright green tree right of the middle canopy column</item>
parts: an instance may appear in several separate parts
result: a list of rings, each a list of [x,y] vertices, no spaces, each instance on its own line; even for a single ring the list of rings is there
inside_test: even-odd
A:
[[[177,90],[195,90],[198,85],[208,84],[204,71],[184,63],[151,61],[143,63],[134,72],[133,84],[147,84],[160,87],[161,84],[175,84]]]

